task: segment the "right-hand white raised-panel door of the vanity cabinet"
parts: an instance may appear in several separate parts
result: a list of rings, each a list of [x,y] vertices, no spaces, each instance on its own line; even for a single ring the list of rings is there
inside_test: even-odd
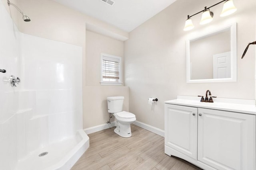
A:
[[[218,170],[255,170],[255,115],[202,108],[198,115],[200,162]]]

